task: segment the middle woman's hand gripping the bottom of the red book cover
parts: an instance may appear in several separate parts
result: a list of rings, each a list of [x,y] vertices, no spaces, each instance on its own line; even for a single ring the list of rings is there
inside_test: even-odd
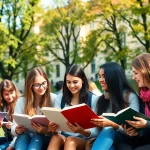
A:
[[[75,125],[73,125],[70,122],[67,122],[67,125],[74,133],[79,133],[84,136],[90,136],[90,134],[91,134],[90,130],[85,130],[78,123],[75,123]]]

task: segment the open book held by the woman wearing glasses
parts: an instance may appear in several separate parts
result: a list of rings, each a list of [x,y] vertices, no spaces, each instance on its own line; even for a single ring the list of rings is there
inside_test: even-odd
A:
[[[31,121],[48,126],[49,120],[44,115],[34,115],[32,117],[25,114],[13,114],[13,118],[18,125],[23,125],[29,132],[35,133],[31,126]]]

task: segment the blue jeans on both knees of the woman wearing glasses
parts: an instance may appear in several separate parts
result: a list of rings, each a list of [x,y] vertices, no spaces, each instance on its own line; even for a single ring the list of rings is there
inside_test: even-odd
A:
[[[43,136],[41,134],[34,134],[33,136],[29,133],[20,134],[15,142],[15,150],[41,150]]]

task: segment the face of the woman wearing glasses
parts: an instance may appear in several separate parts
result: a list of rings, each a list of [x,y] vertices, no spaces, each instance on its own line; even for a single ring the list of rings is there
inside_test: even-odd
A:
[[[47,89],[47,81],[43,76],[37,76],[34,79],[33,82],[33,91],[35,94],[42,96],[43,94],[45,94],[46,89]]]

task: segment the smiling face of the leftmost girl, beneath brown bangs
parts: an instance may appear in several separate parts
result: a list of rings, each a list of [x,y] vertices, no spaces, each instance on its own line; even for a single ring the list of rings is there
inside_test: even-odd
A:
[[[4,91],[3,93],[3,98],[7,103],[11,103],[15,100],[16,98],[16,92],[14,91]]]

